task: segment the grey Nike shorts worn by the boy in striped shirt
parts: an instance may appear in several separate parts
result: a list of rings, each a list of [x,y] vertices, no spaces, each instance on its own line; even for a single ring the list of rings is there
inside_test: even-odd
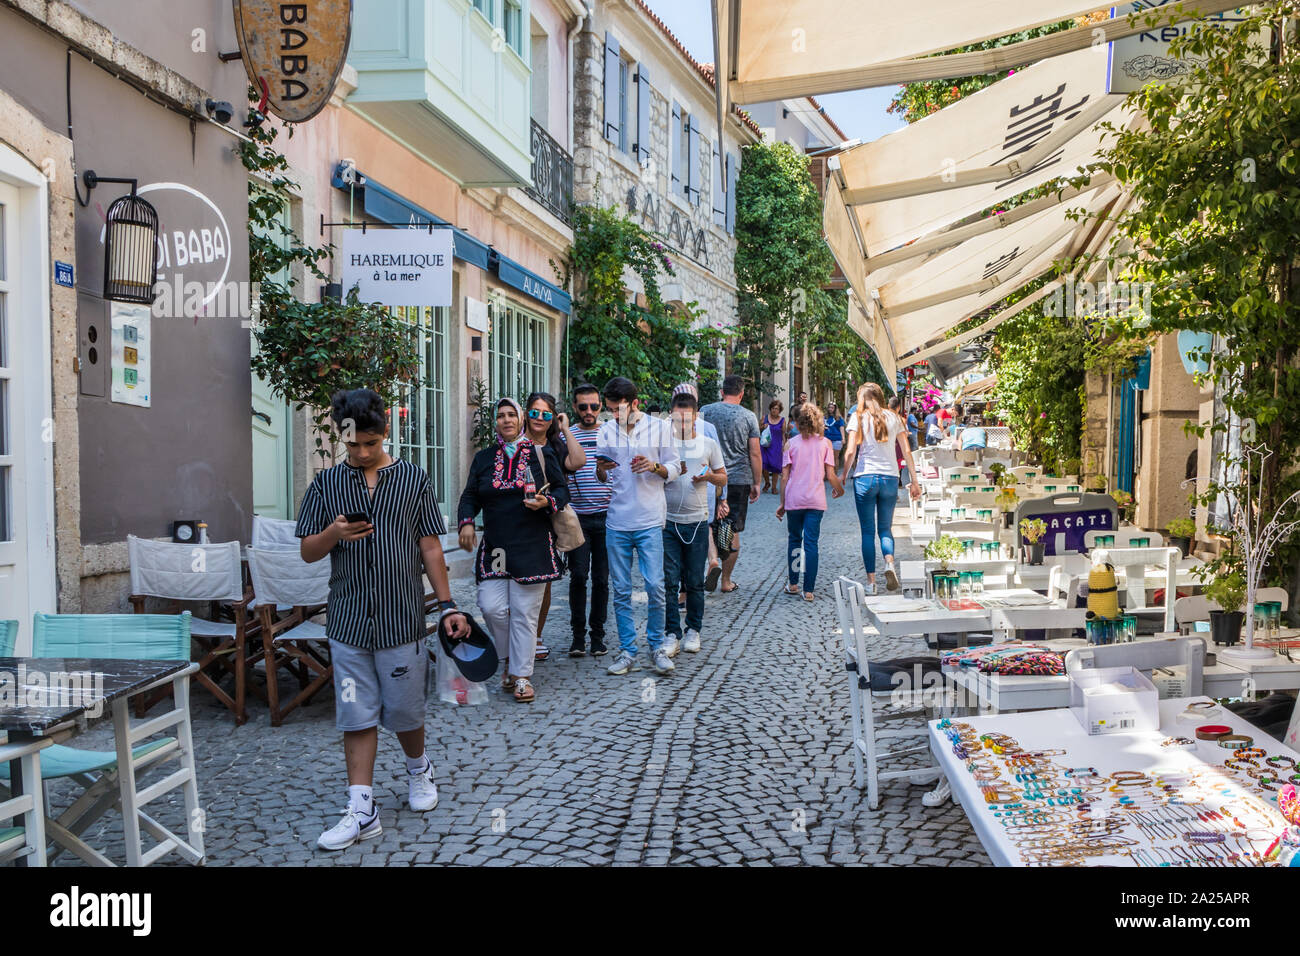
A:
[[[424,641],[384,650],[329,643],[334,662],[334,724],[369,730],[384,724],[394,734],[424,727],[424,685],[429,653]]]

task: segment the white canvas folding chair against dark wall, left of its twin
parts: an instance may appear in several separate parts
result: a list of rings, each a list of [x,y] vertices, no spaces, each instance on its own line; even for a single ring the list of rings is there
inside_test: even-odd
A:
[[[235,724],[244,723],[248,719],[244,701],[248,644],[257,635],[257,624],[248,615],[252,592],[243,585],[239,542],[177,544],[129,535],[126,553],[131,562],[129,600],[136,614],[146,613],[144,602],[151,597],[172,605],[211,602],[211,619],[192,617],[190,620],[190,637],[198,645],[195,679],[230,709]],[[231,620],[217,619],[224,609]],[[233,696],[217,683],[224,672],[234,676]],[[157,700],[144,695],[136,697],[136,717]]]

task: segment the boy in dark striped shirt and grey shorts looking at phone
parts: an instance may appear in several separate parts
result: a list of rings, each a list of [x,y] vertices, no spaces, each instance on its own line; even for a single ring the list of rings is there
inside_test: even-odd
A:
[[[378,724],[398,736],[407,762],[411,809],[438,804],[424,752],[424,583],[429,575],[452,637],[469,635],[456,611],[438,535],[447,528],[433,483],[417,466],[384,450],[387,408],[370,389],[339,392],[330,418],[347,460],[320,472],[303,497],[298,537],[303,559],[330,559],[325,631],[334,665],[334,718],[343,731],[348,803],[321,834],[321,849],[344,849],[384,832],[374,803]],[[348,516],[364,515],[350,522]]]

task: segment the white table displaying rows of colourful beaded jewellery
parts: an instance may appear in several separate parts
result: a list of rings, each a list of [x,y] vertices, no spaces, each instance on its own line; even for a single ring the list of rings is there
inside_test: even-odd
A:
[[[1232,752],[1221,748],[1213,741],[1197,741],[1195,750],[1166,749],[1160,745],[1161,740],[1166,736],[1193,736],[1192,731],[1196,724],[1178,719],[1179,714],[1182,714],[1187,709],[1187,705],[1193,700],[1204,701],[1205,698],[1182,697],[1160,701],[1160,730],[1143,734],[1089,736],[1084,732],[1078,718],[1075,718],[1069,709],[1041,710],[1034,714],[963,717],[957,718],[957,721],[961,723],[968,723],[976,735],[996,732],[1014,737],[1024,750],[1063,749],[1063,754],[1050,757],[1054,763],[1065,767],[1095,767],[1098,774],[1112,774],[1118,770],[1149,771],[1160,767],[1187,770],[1204,767],[1206,765],[1222,766],[1223,761],[1230,757]],[[1300,758],[1300,754],[1295,750],[1291,750],[1271,737],[1264,736],[1257,727],[1251,726],[1236,714],[1228,713],[1222,708],[1217,715],[1206,722],[1228,724],[1232,727],[1234,734],[1244,734],[1253,737],[1256,745],[1265,748],[1270,757],[1283,754],[1291,757],[1292,760]],[[994,813],[998,812],[997,808],[989,809],[983,795],[980,793],[979,787],[976,786],[975,778],[966,769],[966,762],[953,753],[952,741],[944,731],[939,728],[939,721],[930,722],[931,752],[935,754],[940,770],[944,771],[948,778],[948,783],[952,786],[953,799],[957,800],[957,803],[961,804],[962,809],[966,812],[966,817],[970,819],[976,836],[979,836],[980,843],[984,845],[984,851],[997,866],[1026,865],[1019,849],[1009,839],[1006,827],[1001,823],[1001,817],[994,816]],[[1011,780],[1011,771],[1009,771],[1001,761],[997,762],[1002,779]],[[1260,799],[1260,791],[1256,791],[1253,787],[1247,788],[1244,782],[1248,778],[1236,777],[1235,779],[1240,782],[1231,786],[1232,793],[1226,797],[1217,797],[1218,800],[1240,801],[1243,796],[1251,793]],[[1110,799],[1109,792],[1104,796],[1104,804],[1102,809],[1110,810],[1112,814],[1119,812],[1114,800]],[[1216,804],[1216,809],[1217,806],[1218,804]],[[1280,831],[1284,821],[1282,819],[1282,816],[1278,814],[1275,805],[1271,808],[1271,816],[1275,817],[1275,826],[1271,827],[1271,834],[1275,835]],[[1253,849],[1264,852],[1264,849],[1268,848],[1269,842],[1271,842],[1271,835],[1269,839],[1264,839],[1265,832],[1266,830],[1251,831],[1252,840],[1249,845]],[[1139,847],[1150,845],[1150,840],[1141,835],[1134,822],[1130,822],[1126,826],[1123,835],[1130,839],[1138,839]],[[1253,839],[1254,835],[1258,835],[1260,839]],[[1186,847],[1187,844],[1175,839],[1162,839],[1156,845]],[[1114,853],[1106,856],[1086,857],[1084,862],[1089,866],[1138,865],[1121,849],[1117,849]]]

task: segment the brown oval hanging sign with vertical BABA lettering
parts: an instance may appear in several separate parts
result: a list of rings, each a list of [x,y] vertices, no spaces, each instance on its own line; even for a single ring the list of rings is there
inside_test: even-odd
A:
[[[287,122],[311,120],[334,92],[352,34],[352,0],[235,0],[244,70]]]

